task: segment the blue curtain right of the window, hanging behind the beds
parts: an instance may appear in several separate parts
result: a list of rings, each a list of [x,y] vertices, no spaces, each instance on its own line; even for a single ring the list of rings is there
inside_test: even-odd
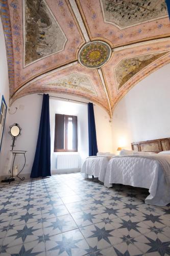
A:
[[[98,144],[96,140],[95,119],[93,103],[88,103],[88,142],[89,156],[96,156],[98,153]]]

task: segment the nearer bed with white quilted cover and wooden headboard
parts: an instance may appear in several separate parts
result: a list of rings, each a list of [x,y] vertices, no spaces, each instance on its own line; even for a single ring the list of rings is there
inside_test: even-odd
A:
[[[148,188],[150,195],[145,203],[160,206],[170,203],[170,138],[132,143],[132,150],[158,155],[111,158],[107,164],[105,186],[119,183]]]

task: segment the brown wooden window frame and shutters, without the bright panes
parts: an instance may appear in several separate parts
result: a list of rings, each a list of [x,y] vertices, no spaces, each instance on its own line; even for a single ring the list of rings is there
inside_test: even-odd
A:
[[[56,114],[58,115],[58,114]],[[77,116],[71,116],[71,115],[63,115],[64,116],[64,148],[63,149],[57,149],[57,139],[56,139],[56,119],[55,119],[55,141],[54,141],[54,152],[78,152],[78,132],[77,132]],[[67,136],[67,130],[68,130],[68,118],[72,118],[72,123],[75,117],[75,125],[76,125],[76,148],[74,150],[68,150],[67,148],[67,141],[68,141],[68,136]]]

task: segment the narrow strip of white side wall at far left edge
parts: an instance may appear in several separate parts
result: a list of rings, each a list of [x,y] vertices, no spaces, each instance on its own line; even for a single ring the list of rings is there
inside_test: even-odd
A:
[[[4,38],[3,26],[2,26],[1,17],[0,17],[0,104],[2,101],[2,95],[4,95],[7,106],[9,106],[8,65],[7,65],[5,38]],[[2,160],[4,158],[3,148],[5,148],[6,146],[5,137],[6,137],[6,134],[8,133],[7,123],[8,123],[8,112],[6,115],[6,122],[4,126],[4,136],[3,136],[2,148],[0,152],[0,170],[2,166]]]

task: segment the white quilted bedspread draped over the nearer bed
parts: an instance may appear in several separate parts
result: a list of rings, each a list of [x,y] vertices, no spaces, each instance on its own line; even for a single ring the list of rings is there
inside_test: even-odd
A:
[[[170,203],[170,186],[156,160],[138,156],[113,157],[108,162],[104,184],[111,187],[112,183],[149,188],[150,195],[145,203],[160,206]]]

